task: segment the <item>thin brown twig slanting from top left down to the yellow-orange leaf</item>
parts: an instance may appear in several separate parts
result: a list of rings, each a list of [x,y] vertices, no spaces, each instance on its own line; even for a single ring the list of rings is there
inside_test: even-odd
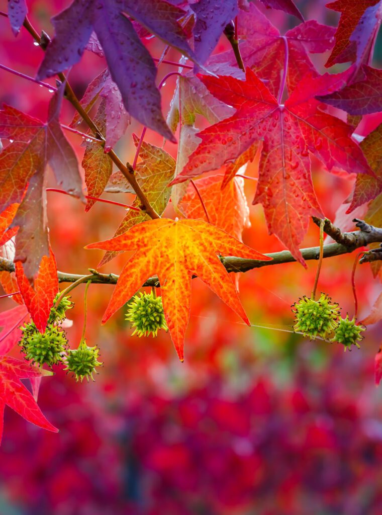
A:
[[[45,50],[50,39],[49,36],[43,32],[42,37],[40,37],[39,33],[36,29],[31,25],[28,18],[25,18],[24,20],[24,27],[26,30],[30,33],[32,38],[40,45],[40,47]],[[72,90],[71,85],[68,83],[67,78],[65,75],[61,72],[58,74],[58,77],[60,78],[61,82],[65,83],[65,98],[69,100],[72,104],[72,106],[78,111],[78,113],[83,118],[84,122],[89,126],[89,128],[94,132],[94,135],[97,140],[99,140],[99,144],[102,147],[105,147],[105,138],[103,138],[103,135],[101,131],[98,129],[96,124],[93,122],[92,118],[89,116],[88,113],[83,109],[83,107],[80,104],[80,101],[78,100],[76,94]],[[151,206],[148,198],[144,194],[144,192],[141,189],[141,186],[138,184],[134,169],[133,167],[127,163],[124,165],[124,163],[118,158],[116,153],[113,149],[109,150],[108,155],[110,159],[113,161],[113,163],[118,167],[118,169],[124,174],[128,182],[130,183],[131,187],[133,188],[134,192],[136,193],[136,196],[140,199],[142,205],[141,209],[142,211],[145,211],[151,218],[160,218],[159,214],[153,209]]]

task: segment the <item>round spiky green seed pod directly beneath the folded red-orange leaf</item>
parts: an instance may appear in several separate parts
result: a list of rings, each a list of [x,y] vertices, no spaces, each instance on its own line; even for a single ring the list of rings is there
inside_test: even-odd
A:
[[[63,353],[67,348],[65,332],[53,324],[48,324],[44,334],[41,334],[33,322],[21,328],[23,336],[19,345],[25,354],[25,359],[33,363],[49,367],[62,361]]]

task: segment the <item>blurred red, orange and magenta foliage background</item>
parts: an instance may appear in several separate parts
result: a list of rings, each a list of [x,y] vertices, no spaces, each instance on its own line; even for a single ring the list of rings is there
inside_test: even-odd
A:
[[[297,2],[306,18],[336,24],[324,2]],[[6,2],[0,2],[6,10]],[[30,19],[52,34],[50,16],[68,2],[28,2]],[[298,23],[266,11],[282,31]],[[42,59],[28,33],[14,38],[0,18],[0,62],[34,76]],[[154,57],[163,44],[146,41]],[[222,39],[216,52],[227,47]],[[179,56],[170,53],[169,58]],[[382,49],[376,45],[375,65]],[[323,70],[322,62],[318,66]],[[70,72],[79,96],[105,67],[86,53]],[[159,79],[171,71],[161,65]],[[339,70],[340,68],[338,68]],[[0,100],[44,119],[49,93],[37,84],[0,71]],[[164,86],[166,112],[175,87]],[[52,82],[53,83],[53,82]],[[62,121],[69,123],[71,106]],[[367,134],[381,115],[364,117],[357,132]],[[199,121],[203,124],[203,121]],[[132,161],[134,121],[116,151]],[[78,135],[67,133],[82,159]],[[162,145],[148,131],[147,141]],[[165,148],[176,156],[176,145]],[[354,177],[328,174],[314,162],[314,183],[324,213],[336,217]],[[252,163],[247,175],[256,177]],[[249,204],[256,183],[246,181]],[[54,186],[52,180],[51,186]],[[113,199],[126,202],[128,195]],[[172,215],[171,208],[167,214]],[[58,267],[85,273],[101,258],[83,246],[113,235],[123,208],[96,204],[88,213],[78,201],[48,193],[51,243]],[[251,228],[244,242],[261,252],[281,250],[266,230],[261,207],[250,207]],[[342,220],[344,221],[344,220]],[[311,226],[304,246],[318,245]],[[354,312],[351,269],[355,254],[325,260],[319,289]],[[118,256],[102,271],[118,273]],[[10,409],[0,448],[1,515],[380,515],[382,513],[382,393],[374,385],[379,327],[370,327],[361,349],[343,352],[338,344],[256,325],[291,325],[291,304],[309,294],[316,263],[265,267],[239,278],[240,298],[254,325],[248,328],[199,280],[193,281],[192,315],[185,362],[169,336],[136,338],[121,310],[104,327],[100,319],[112,286],[89,289],[87,340],[104,362],[95,383],[76,383],[65,372],[43,379],[39,405],[59,434],[28,424]],[[369,265],[356,273],[360,317],[380,291]],[[83,323],[83,286],[73,291],[75,308],[68,330],[78,345]],[[2,310],[12,301],[1,300]],[[163,332],[162,332],[163,333]],[[18,349],[13,354],[18,355]]]

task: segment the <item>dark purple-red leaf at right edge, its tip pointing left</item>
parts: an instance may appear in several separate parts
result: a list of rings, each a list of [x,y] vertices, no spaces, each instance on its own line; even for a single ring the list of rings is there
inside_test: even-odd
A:
[[[363,78],[330,95],[317,97],[349,114],[370,114],[382,111],[382,70],[363,65]]]

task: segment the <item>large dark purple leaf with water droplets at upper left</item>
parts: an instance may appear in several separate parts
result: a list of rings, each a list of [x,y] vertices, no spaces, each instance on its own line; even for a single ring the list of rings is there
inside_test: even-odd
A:
[[[124,0],[123,5],[114,0],[74,0],[52,19],[56,35],[46,50],[38,77],[51,77],[77,63],[94,30],[126,111],[143,125],[175,141],[161,111],[161,97],[155,84],[157,68],[122,10],[182,54],[195,59],[178,23],[184,11],[175,5],[164,0]]]

